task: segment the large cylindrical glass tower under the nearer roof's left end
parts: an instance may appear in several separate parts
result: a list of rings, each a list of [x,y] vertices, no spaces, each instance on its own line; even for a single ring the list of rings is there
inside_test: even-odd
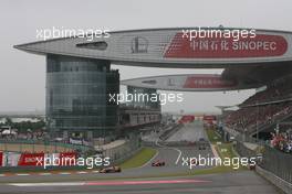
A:
[[[119,93],[119,74],[108,61],[73,56],[46,56],[46,120],[52,134],[93,131],[114,133],[117,105],[109,94]]]

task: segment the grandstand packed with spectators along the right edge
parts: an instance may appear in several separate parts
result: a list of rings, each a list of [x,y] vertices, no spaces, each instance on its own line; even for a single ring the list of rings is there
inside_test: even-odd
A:
[[[268,83],[264,90],[249,97],[225,118],[228,128],[241,133],[271,139],[275,129],[292,127],[292,75]],[[285,123],[285,127],[283,125]],[[280,126],[280,128],[279,128]]]

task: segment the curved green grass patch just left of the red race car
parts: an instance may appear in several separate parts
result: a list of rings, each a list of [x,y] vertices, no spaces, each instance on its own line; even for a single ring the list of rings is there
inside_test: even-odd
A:
[[[156,150],[152,148],[143,148],[138,153],[136,153],[133,158],[126,160],[121,164],[122,169],[132,169],[138,168],[148,162],[155,154]]]

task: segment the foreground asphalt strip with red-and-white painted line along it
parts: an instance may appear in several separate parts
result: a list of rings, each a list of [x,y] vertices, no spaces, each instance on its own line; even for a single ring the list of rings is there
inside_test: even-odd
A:
[[[186,177],[153,177],[123,181],[80,181],[34,184],[4,184],[0,193],[197,193],[197,194],[277,194],[274,186],[252,171]]]

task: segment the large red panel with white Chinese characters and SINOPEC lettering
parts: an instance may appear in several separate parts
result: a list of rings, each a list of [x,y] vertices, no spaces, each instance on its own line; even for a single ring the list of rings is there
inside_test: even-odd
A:
[[[236,58],[281,56],[288,42],[281,35],[257,34],[255,37],[196,37],[191,41],[179,32],[166,50],[166,58]]]

